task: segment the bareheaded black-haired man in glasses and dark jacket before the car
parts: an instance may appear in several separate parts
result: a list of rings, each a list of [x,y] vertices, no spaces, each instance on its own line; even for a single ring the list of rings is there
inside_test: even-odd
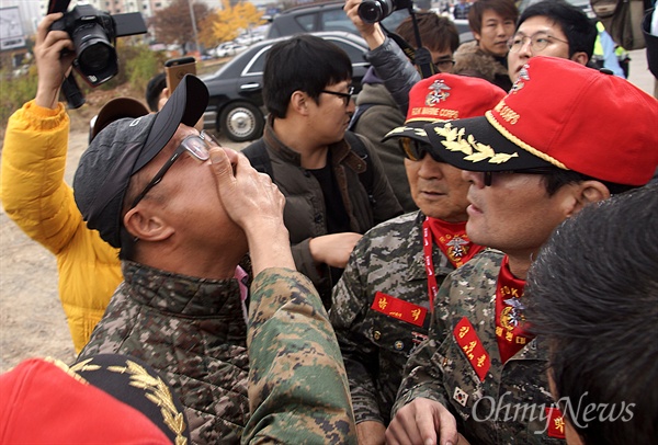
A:
[[[350,58],[331,42],[306,34],[275,44],[263,72],[270,116],[262,139],[243,150],[286,196],[295,264],[326,307],[361,236],[401,213],[370,141],[345,134],[351,82]]]

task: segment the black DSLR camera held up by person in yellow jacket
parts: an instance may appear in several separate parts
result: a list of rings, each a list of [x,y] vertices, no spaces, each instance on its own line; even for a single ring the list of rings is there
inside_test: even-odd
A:
[[[110,15],[91,4],[79,4],[54,22],[50,30],[66,31],[73,41],[73,68],[91,87],[112,79],[118,72],[114,43],[116,37],[145,34],[139,12]]]

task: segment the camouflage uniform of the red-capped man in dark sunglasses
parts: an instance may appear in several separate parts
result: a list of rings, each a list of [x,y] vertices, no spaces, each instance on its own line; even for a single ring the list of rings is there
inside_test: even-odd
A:
[[[330,320],[345,363],[356,422],[389,422],[390,409],[409,352],[427,336],[422,327],[371,308],[382,292],[429,309],[422,221],[415,212],[370,230],[356,244],[333,289]],[[441,249],[432,249],[436,282],[454,270]]]

